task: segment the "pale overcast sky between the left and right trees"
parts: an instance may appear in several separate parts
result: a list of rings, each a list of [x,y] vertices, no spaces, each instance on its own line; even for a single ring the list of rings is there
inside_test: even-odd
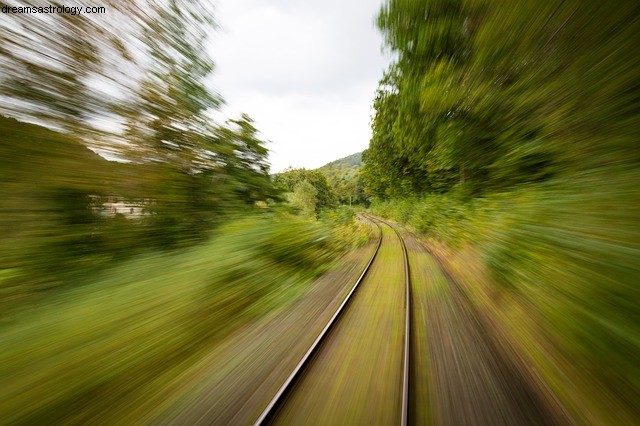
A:
[[[213,85],[226,116],[249,114],[270,140],[272,172],[362,151],[389,59],[374,26],[381,0],[218,0]]]

